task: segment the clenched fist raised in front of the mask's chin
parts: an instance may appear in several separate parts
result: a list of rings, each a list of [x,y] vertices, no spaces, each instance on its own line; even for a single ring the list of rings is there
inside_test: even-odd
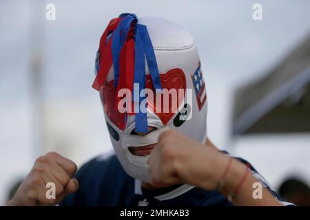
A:
[[[191,184],[213,190],[226,162],[223,153],[169,129],[161,133],[149,155],[149,173],[156,187]]]

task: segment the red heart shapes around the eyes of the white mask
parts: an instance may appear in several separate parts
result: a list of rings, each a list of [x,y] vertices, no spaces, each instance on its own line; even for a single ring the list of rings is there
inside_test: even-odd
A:
[[[161,102],[154,102],[156,100],[156,93],[152,84],[151,75],[145,76],[145,87],[152,89],[154,92],[154,98],[147,98],[147,107],[153,111],[158,118],[161,119],[163,124],[167,124],[177,112],[178,107],[183,102],[186,89],[186,77],[182,69],[170,69],[166,74],[160,74],[161,87],[167,89],[167,94],[160,94]],[[176,93],[169,95],[171,89],[176,89]],[[178,89],[183,89],[183,94],[179,94]],[[169,96],[168,96],[169,95]],[[125,129],[125,113],[120,113],[116,106],[116,88],[114,87],[114,80],[105,82],[100,89],[101,102],[107,117],[115,124],[119,129]],[[158,96],[158,94],[157,94]],[[159,100],[159,98],[158,98]],[[157,111],[157,112],[156,112]]]

